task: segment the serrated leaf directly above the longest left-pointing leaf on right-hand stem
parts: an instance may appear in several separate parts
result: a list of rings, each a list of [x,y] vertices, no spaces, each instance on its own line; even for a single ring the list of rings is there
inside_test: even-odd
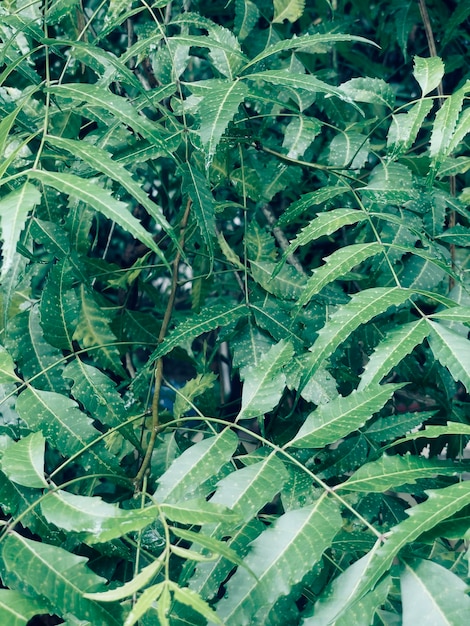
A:
[[[312,276],[307,280],[298,305],[307,304],[314,295],[320,293],[323,287],[340,278],[365,259],[382,251],[383,247],[379,243],[358,243],[340,248],[325,257],[325,265],[313,270]]]

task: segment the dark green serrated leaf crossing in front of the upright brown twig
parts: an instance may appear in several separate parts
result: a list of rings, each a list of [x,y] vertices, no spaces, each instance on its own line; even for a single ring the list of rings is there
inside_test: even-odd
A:
[[[240,317],[246,315],[247,309],[244,304],[233,305],[229,302],[226,305],[216,304],[208,306],[203,313],[192,316],[190,319],[180,322],[170,333],[161,345],[151,354],[149,363],[165,356],[176,346],[184,345],[193,341],[200,335],[215,330],[219,326],[225,326],[235,322]]]

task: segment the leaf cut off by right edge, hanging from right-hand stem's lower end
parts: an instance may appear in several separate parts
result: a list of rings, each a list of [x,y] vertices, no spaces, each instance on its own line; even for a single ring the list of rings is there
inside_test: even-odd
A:
[[[435,358],[470,389],[470,343],[462,335],[437,322],[428,320],[431,327],[429,344]]]

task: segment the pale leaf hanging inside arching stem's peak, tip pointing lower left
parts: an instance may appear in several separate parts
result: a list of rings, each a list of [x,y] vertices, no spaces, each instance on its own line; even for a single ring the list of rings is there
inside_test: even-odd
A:
[[[200,485],[230,460],[237,445],[238,438],[229,428],[195,443],[158,479],[154,499],[159,503],[178,503],[193,498]]]

